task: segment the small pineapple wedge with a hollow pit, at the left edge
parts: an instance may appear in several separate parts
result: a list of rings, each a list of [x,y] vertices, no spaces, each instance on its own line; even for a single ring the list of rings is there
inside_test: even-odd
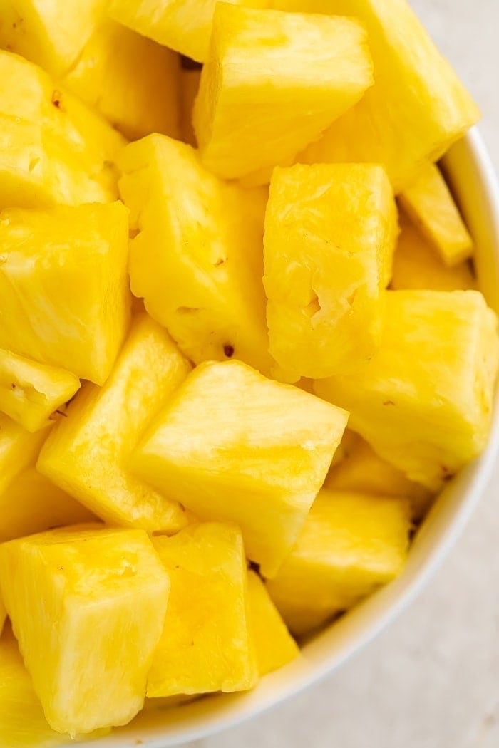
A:
[[[70,372],[0,350],[0,411],[28,431],[48,426],[79,386]]]

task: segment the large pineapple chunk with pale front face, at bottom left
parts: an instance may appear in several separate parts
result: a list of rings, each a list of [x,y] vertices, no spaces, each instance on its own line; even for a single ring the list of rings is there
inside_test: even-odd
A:
[[[71,735],[141,709],[170,588],[143,530],[96,527],[0,546],[1,593],[34,690],[52,729]]]

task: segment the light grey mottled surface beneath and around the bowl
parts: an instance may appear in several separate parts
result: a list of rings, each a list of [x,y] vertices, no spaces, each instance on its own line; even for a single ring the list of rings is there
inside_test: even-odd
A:
[[[483,111],[499,171],[499,0],[411,0]],[[499,748],[499,466],[420,598],[326,681],[189,748]]]

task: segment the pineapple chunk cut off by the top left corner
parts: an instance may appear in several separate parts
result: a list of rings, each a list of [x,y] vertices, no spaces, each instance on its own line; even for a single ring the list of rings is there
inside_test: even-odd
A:
[[[4,0],[0,47],[17,52],[60,76],[79,56],[107,0]]]

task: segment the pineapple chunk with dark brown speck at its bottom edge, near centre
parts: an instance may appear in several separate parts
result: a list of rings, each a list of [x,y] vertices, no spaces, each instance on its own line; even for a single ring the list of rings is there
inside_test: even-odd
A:
[[[233,356],[266,373],[265,192],[221,183],[163,135],[126,147],[120,168],[134,294],[196,364]]]

